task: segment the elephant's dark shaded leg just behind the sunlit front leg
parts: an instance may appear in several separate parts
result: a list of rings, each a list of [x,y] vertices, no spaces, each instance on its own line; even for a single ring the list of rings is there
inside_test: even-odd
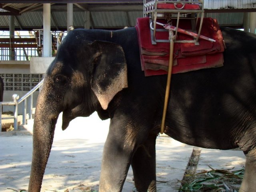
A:
[[[136,150],[132,170],[138,192],[156,192],[156,136],[149,136]]]

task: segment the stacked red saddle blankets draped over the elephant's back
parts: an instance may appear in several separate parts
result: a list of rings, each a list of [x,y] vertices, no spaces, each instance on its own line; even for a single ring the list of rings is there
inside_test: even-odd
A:
[[[158,42],[156,45],[152,45],[149,22],[148,17],[138,18],[135,26],[138,32],[142,70],[145,76],[167,74],[170,43]],[[157,28],[163,29],[160,25],[157,25]],[[179,28],[190,30],[191,22],[181,19]],[[224,44],[217,21],[212,18],[204,18],[201,35],[212,38],[216,42],[199,39],[199,45],[174,43],[173,74],[223,66]],[[156,32],[156,39],[168,40],[168,36],[168,30]],[[193,40],[193,37],[178,32],[176,40]]]

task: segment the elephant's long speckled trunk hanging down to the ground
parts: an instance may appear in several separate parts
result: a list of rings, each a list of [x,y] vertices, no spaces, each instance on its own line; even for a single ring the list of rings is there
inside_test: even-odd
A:
[[[40,95],[42,95],[40,93]],[[52,148],[57,113],[38,97],[33,127],[33,156],[28,186],[29,192],[40,192],[46,164]],[[55,111],[55,110],[54,110]],[[55,114],[55,115],[53,115]]]

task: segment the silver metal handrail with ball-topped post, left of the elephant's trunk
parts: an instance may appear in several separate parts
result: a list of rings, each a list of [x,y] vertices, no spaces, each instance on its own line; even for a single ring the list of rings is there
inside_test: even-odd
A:
[[[26,106],[27,106],[27,98],[30,97],[29,100],[29,119],[32,119],[32,109],[33,109],[33,93],[38,90],[42,86],[44,79],[42,79],[34,88],[32,88],[29,92],[27,92],[22,98],[19,99],[18,94],[13,94],[12,99],[13,102],[0,102],[0,132],[2,131],[2,119],[14,119],[14,130],[18,130],[18,104],[23,102],[22,105],[22,125],[26,125]],[[10,117],[2,117],[2,106],[3,105],[13,105],[14,106],[14,116]]]

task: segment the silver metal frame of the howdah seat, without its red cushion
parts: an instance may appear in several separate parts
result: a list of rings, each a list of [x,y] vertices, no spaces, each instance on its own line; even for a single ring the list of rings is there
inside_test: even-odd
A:
[[[176,9],[159,9],[157,8],[158,4],[174,4],[174,7]],[[178,5],[181,5],[181,8],[178,8]],[[200,9],[199,10],[188,10],[184,9],[185,4],[198,4]],[[172,19],[176,19],[176,31],[175,31],[175,39],[174,42],[180,42],[180,43],[194,43],[196,45],[199,45],[198,38],[202,29],[202,23],[204,18],[204,0],[144,0],[144,9],[143,9],[143,15],[144,17],[150,17],[150,25],[152,24],[153,30],[150,30],[151,33],[151,41],[152,44],[156,44],[157,42],[170,42],[169,40],[162,40],[162,39],[156,39],[156,32],[157,31],[166,31],[166,29],[156,29],[157,22],[156,20],[158,18],[164,18],[164,14],[171,14]],[[194,38],[194,40],[176,40],[177,33],[178,33],[178,26],[180,19],[190,19],[192,24],[192,31],[196,32],[196,26],[198,24],[198,18],[201,17],[200,20],[200,26],[198,29],[198,36]]]

